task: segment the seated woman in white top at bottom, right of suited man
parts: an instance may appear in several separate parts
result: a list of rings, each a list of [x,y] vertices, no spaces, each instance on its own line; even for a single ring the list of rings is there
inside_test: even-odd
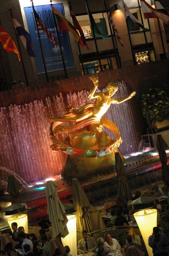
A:
[[[104,251],[111,254],[114,252],[117,252],[117,250],[120,250],[123,252],[123,249],[121,248],[120,244],[117,242],[115,238],[111,238],[111,235],[109,233],[104,234]]]

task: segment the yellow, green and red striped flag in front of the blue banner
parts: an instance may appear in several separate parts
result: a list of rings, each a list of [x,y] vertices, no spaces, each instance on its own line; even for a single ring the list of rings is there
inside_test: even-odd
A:
[[[58,12],[53,6],[52,6],[53,13],[56,17],[57,23],[58,23],[58,29],[59,31],[67,30],[71,33],[74,40],[79,43],[80,36],[77,33],[74,26],[60,13]]]

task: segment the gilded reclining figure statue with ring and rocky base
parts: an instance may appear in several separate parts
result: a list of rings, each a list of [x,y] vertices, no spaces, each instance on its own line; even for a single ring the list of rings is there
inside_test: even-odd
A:
[[[126,97],[115,99],[113,95],[118,90],[116,83],[109,82],[106,92],[96,92],[98,76],[93,75],[89,79],[92,80],[94,87],[89,92],[88,99],[95,99],[95,102],[84,104],[79,109],[72,104],[68,105],[64,115],[48,118],[48,122],[52,122],[51,149],[54,152],[61,150],[68,155],[61,173],[62,178],[74,178],[112,168],[115,164],[115,152],[118,152],[123,140],[117,126],[103,115],[112,104],[119,105],[136,94],[131,92]],[[75,103],[77,105],[77,97]],[[103,131],[103,127],[114,133],[113,139]],[[69,133],[64,141],[57,136],[62,133]],[[125,158],[121,157],[125,162]]]

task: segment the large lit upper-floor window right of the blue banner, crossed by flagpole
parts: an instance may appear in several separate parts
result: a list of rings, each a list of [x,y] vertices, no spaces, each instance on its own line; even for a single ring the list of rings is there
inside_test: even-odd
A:
[[[109,20],[107,17],[107,13],[101,12],[101,13],[95,13],[92,15],[93,15],[95,23],[96,23],[97,27],[99,28],[100,32],[105,36],[110,35]],[[85,38],[92,38],[93,33],[92,33],[91,24],[90,24],[88,14],[76,16],[76,18],[83,30]],[[95,36],[98,37],[99,35],[97,33],[95,33]]]

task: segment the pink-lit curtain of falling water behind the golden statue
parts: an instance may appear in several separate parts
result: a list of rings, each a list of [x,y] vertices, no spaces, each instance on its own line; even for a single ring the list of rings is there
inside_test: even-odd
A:
[[[126,97],[128,92],[125,82],[117,84],[119,89],[115,96]],[[69,93],[64,98],[60,93],[52,99],[46,97],[44,101],[35,100],[29,104],[0,108],[0,165],[16,173],[27,183],[60,175],[66,154],[50,149],[50,124],[47,123],[47,117],[63,115],[64,108],[69,104],[80,108],[92,102],[87,99],[87,95],[88,92],[81,91]],[[123,138],[123,143],[119,147],[121,154],[136,152],[139,143],[130,102],[112,104],[104,116],[115,123],[120,131]],[[113,139],[113,133],[107,128],[105,131]],[[65,140],[67,134],[59,136],[60,140]],[[8,175],[5,171],[1,172],[2,180],[7,181]]]

